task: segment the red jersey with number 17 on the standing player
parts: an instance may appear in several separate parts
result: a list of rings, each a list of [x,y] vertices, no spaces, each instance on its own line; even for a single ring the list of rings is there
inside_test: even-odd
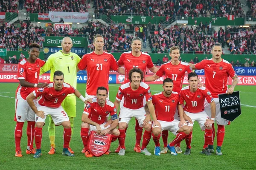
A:
[[[161,65],[159,70],[156,72],[156,75],[162,77],[163,74],[165,74],[166,78],[169,77],[173,80],[172,91],[180,92],[186,72],[192,72],[192,69],[189,67],[188,63],[181,61],[180,64],[173,65],[172,62],[169,61]]]

